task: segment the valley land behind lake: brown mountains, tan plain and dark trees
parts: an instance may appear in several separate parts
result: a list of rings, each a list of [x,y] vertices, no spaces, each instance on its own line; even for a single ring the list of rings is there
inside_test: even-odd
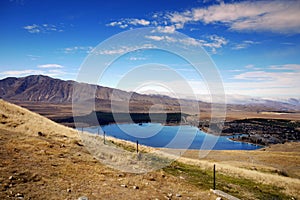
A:
[[[79,95],[73,94],[74,87],[80,91]],[[75,127],[74,119],[80,126],[114,123],[111,113],[114,109],[117,110],[114,114],[124,115],[119,119],[122,123],[131,122],[131,119],[126,119],[127,112],[136,123],[150,122],[148,113],[151,112],[151,117],[157,115],[154,122],[164,120],[165,114],[167,121],[162,123],[182,123],[184,117],[184,123],[205,132],[214,134],[216,128],[222,129],[222,135],[245,134],[247,136],[235,137],[234,140],[259,145],[300,139],[300,110],[295,101],[293,104],[276,101],[228,104],[223,126],[222,123],[215,124],[212,105],[201,101],[138,94],[41,75],[0,80],[0,89],[1,98],[69,127]],[[90,94],[95,95],[94,99]],[[73,102],[72,98],[75,98]],[[152,109],[153,106],[156,109]],[[197,110],[199,112],[195,112]],[[182,111],[185,113],[180,114]]]

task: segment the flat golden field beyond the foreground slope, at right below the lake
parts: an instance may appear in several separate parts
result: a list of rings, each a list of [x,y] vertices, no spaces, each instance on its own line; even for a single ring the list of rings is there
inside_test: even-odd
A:
[[[289,146],[292,148],[289,149]],[[184,157],[199,159],[199,151],[189,150]],[[300,144],[286,143],[256,151],[211,151],[204,158],[240,168],[300,178]]]

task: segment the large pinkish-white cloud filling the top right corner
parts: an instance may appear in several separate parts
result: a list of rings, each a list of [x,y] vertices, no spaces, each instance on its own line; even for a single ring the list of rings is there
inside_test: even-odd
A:
[[[237,31],[300,33],[300,1],[242,1],[169,13],[171,23],[222,23]]]

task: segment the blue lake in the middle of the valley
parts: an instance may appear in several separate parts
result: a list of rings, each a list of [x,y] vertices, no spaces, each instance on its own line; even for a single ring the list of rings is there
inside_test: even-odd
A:
[[[81,130],[81,129],[80,129]],[[84,128],[84,131],[129,140],[151,147],[202,150],[255,150],[261,146],[232,141],[232,136],[214,136],[189,125],[164,126],[159,123],[110,124]]]

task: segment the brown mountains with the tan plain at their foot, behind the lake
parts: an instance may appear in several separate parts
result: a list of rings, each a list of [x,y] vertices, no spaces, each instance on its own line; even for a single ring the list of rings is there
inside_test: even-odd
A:
[[[72,99],[74,86],[77,99]],[[116,98],[112,100],[113,92]],[[72,117],[74,114],[72,100],[76,102],[78,98],[81,98],[82,103],[79,106],[75,105],[75,108],[79,110],[75,112],[75,115],[86,115],[93,110],[111,112],[111,105],[114,105],[118,112],[127,112],[129,104],[131,112],[155,112],[153,108],[156,108],[157,112],[184,112],[197,114],[197,117],[203,120],[211,119],[211,104],[206,102],[174,99],[160,95],[143,95],[42,75],[0,80],[0,98],[53,120]],[[281,109],[290,111],[278,113],[277,111]],[[295,110],[295,107],[278,102],[253,105],[228,104],[226,112],[227,121],[245,118],[298,120],[299,116],[299,110]]]

